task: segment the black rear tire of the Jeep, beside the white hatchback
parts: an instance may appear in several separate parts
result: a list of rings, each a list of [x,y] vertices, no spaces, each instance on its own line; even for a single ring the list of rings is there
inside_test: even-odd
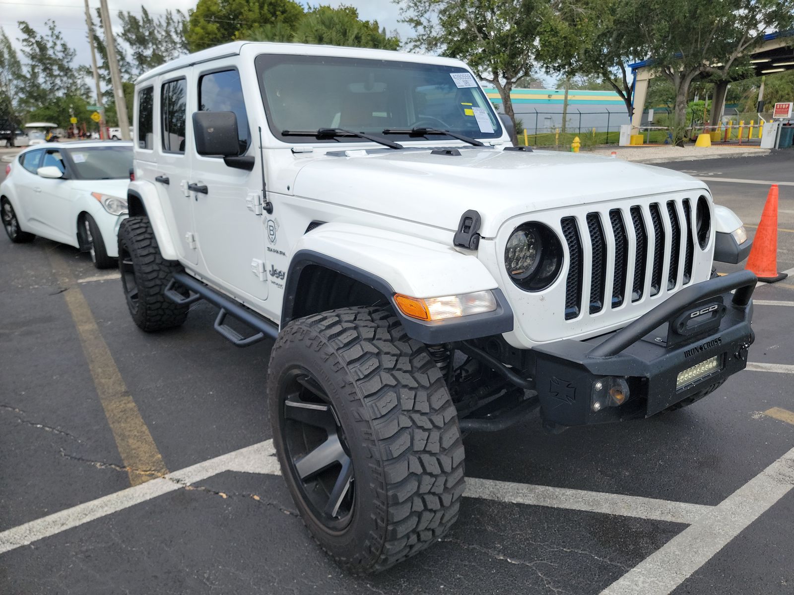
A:
[[[188,306],[176,304],[164,294],[173,274],[184,269],[160,255],[148,217],[121,221],[118,267],[129,313],[139,328],[154,332],[184,323]]]

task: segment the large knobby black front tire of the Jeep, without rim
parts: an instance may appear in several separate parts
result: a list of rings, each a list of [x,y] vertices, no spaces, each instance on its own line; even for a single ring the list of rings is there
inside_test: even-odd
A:
[[[349,524],[331,530],[299,489],[283,427],[286,378],[316,378],[353,462]],[[457,520],[464,448],[457,411],[425,346],[394,313],[339,309],[287,324],[272,349],[268,400],[273,443],[295,505],[320,546],[345,570],[385,570],[434,543]]]

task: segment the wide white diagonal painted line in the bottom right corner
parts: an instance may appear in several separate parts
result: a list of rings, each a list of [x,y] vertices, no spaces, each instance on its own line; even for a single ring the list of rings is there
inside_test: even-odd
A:
[[[794,448],[730,494],[601,595],[666,595],[794,487]]]

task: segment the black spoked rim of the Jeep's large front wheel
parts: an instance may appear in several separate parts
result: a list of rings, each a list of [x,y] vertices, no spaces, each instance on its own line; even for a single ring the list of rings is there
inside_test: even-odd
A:
[[[326,390],[308,370],[287,371],[281,395],[281,435],[300,497],[331,532],[353,517],[353,461]]]

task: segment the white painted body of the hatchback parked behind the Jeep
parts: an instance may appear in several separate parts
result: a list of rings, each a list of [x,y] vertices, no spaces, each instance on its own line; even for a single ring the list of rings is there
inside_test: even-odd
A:
[[[79,149],[97,146],[96,142],[48,143],[44,150]],[[128,146],[129,143],[102,143],[102,146]],[[43,178],[33,174],[20,163],[20,157],[41,147],[21,152],[10,164],[9,175],[0,184],[0,196],[8,198],[25,232],[80,248],[78,224],[81,213],[94,218],[107,255],[118,256],[118,226],[126,215],[111,215],[91,196],[92,192],[125,198],[129,179],[83,180]]]

